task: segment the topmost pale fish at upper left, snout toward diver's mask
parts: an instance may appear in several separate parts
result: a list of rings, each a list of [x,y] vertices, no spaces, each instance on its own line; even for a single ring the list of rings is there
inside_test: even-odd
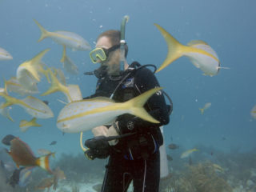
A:
[[[41,42],[44,38],[51,38],[54,42],[62,46],[67,46],[72,50],[90,50],[90,44],[86,39],[82,38],[80,35],[75,34],[70,31],[58,30],[55,32],[50,32],[45,30],[39,23],[34,19],[34,22],[38,25],[42,34],[38,39],[38,42]]]

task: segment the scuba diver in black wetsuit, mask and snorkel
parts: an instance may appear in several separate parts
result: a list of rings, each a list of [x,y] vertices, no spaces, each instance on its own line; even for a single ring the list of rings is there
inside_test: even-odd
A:
[[[126,102],[159,86],[154,72],[138,62],[130,65],[126,62],[128,46],[124,41],[125,23],[121,31],[106,30],[97,38],[96,48],[90,52],[90,58],[101,66],[94,72],[98,78],[95,94],[87,98],[108,97],[115,102]],[[155,67],[155,66],[154,66]],[[106,174],[102,183],[102,192],[126,192],[133,181],[134,192],[157,192],[160,181],[160,153],[163,138],[160,126],[169,123],[172,111],[166,105],[164,92],[159,90],[145,104],[146,111],[160,123],[146,122],[131,114],[118,116],[111,126],[95,127],[94,138],[86,140],[89,148],[86,157],[107,158]],[[116,130],[119,136],[115,142],[109,141],[106,130]],[[100,135],[100,134],[98,134]]]

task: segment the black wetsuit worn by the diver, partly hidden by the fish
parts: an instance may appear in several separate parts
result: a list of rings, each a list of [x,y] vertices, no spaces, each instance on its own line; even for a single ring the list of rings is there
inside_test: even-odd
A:
[[[91,97],[104,96],[109,98],[123,79],[125,80],[114,92],[113,99],[116,102],[126,102],[146,90],[158,87],[159,84],[154,73],[148,68],[130,70],[132,66],[138,65],[138,62],[131,64],[122,76],[99,78],[96,92]],[[161,90],[153,94],[144,107],[160,123],[146,122],[130,114],[123,114],[118,117],[120,134],[130,132],[135,134],[122,138],[116,146],[111,146],[102,192],[126,191],[132,180],[134,192],[158,192],[160,179],[159,146],[162,146],[162,134],[159,127],[168,124],[170,108],[168,109],[166,106]]]

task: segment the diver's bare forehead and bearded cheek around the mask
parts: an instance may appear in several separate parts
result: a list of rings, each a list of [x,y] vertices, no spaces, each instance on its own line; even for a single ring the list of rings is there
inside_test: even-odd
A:
[[[96,43],[96,48],[104,48],[109,49],[112,47],[112,43],[110,42],[110,39],[107,37],[101,37],[98,39],[98,42]],[[120,59],[120,52],[119,50],[114,50],[110,52],[108,58],[106,58],[106,61],[100,62],[102,66],[107,66],[107,74],[113,75],[119,73],[119,60]]]

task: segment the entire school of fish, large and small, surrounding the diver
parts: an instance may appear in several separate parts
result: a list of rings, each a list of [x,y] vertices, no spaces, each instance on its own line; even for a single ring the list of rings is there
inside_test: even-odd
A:
[[[86,39],[82,36],[70,31],[57,30],[50,32],[46,30],[37,20],[34,22],[41,31],[41,36],[38,42],[41,42],[45,38],[50,38],[60,46],[62,46],[62,62],[63,69],[70,74],[78,74],[78,66],[67,56],[67,48],[71,50],[90,50],[91,46]],[[166,59],[162,62],[162,65],[158,67],[156,72],[159,72],[169,66],[172,62],[185,56],[190,59],[190,62],[194,64],[198,69],[203,71],[204,75],[214,76],[219,73],[221,68],[218,54],[210,47],[206,42],[202,40],[192,40],[187,46],[178,42],[171,34],[169,34],[162,26],[154,24],[158,30],[160,30],[163,38],[165,38],[168,53]],[[10,121],[14,122],[16,119],[11,118],[10,110],[12,105],[18,105],[22,107],[27,114],[32,116],[32,119],[22,119],[19,123],[19,128],[22,132],[26,132],[30,127],[39,127],[37,119],[54,118],[54,113],[50,109],[48,102],[42,101],[33,94],[41,94],[46,96],[61,92],[64,94],[66,101],[62,101],[65,106],[60,110],[57,118],[57,127],[66,133],[79,133],[88,131],[95,126],[109,125],[121,114],[134,114],[139,118],[142,118],[149,122],[158,123],[158,120],[154,119],[143,108],[145,102],[162,88],[154,88],[148,90],[145,93],[133,98],[127,102],[114,102],[110,98],[90,98],[83,99],[82,93],[78,85],[66,84],[65,74],[61,69],[47,66],[45,62],[42,62],[42,58],[49,52],[50,49],[42,50],[33,58],[27,59],[22,62],[16,69],[15,75],[4,81],[4,86],[0,88],[0,96],[5,99],[5,102],[0,104],[0,114]],[[0,63],[2,61],[8,62],[13,59],[12,55],[2,47],[0,47]],[[38,83],[42,82],[42,78],[46,78],[46,81],[50,84],[48,90],[41,92],[38,90]],[[13,96],[17,94],[18,97]],[[24,98],[20,98],[24,97]],[[199,108],[202,114],[204,110],[209,109],[211,102],[207,102],[202,108]],[[250,111],[250,115],[256,119],[256,106]],[[8,137],[7,137],[8,136]],[[54,186],[56,189],[58,179],[65,179],[66,176],[59,170],[50,169],[49,159],[50,156],[54,156],[54,153],[49,150],[40,149],[38,154],[41,157],[36,157],[30,146],[23,142],[18,137],[12,137],[7,135],[3,139],[3,143],[10,146],[10,150],[7,150],[11,158],[13,158],[17,167],[25,167],[23,170],[19,170],[19,175],[22,178],[21,185],[25,185],[30,178],[32,168],[41,167],[53,176],[45,178],[37,186],[37,189],[50,188]],[[56,144],[56,141],[54,141]],[[50,144],[50,145],[54,145]],[[169,148],[174,150],[179,146],[170,144]],[[180,158],[188,158],[191,154],[194,154],[198,149],[184,151]],[[171,161],[172,158],[168,157]],[[220,168],[218,168],[220,169]]]

